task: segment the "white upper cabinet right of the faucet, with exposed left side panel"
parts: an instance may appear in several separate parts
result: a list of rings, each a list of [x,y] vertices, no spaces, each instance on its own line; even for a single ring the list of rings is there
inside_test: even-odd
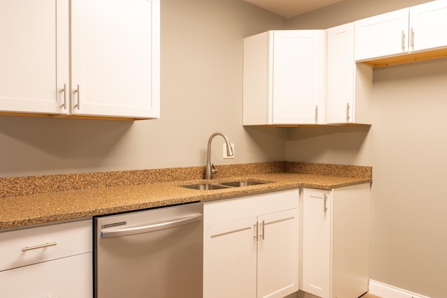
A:
[[[244,39],[244,125],[324,123],[324,82],[324,30]]]

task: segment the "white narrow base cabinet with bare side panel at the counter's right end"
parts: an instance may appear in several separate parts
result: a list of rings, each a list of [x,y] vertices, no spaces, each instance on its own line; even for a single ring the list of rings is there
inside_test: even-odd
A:
[[[370,184],[302,191],[301,290],[360,297],[369,282]]]

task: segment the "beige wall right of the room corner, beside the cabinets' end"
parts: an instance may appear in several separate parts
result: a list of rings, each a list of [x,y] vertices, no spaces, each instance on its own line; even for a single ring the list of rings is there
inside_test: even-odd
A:
[[[349,0],[289,28],[421,2]],[[372,165],[370,278],[428,297],[446,297],[446,82],[447,59],[376,69],[369,130],[288,128],[288,161]]]

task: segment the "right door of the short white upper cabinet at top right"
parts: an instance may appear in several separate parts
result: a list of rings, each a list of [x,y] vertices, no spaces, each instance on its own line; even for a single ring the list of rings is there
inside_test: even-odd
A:
[[[447,1],[432,1],[410,8],[410,50],[447,46]]]

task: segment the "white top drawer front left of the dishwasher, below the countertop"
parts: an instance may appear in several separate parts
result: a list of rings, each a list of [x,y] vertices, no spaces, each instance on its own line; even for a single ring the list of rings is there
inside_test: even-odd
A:
[[[0,271],[93,251],[91,219],[0,233]]]

